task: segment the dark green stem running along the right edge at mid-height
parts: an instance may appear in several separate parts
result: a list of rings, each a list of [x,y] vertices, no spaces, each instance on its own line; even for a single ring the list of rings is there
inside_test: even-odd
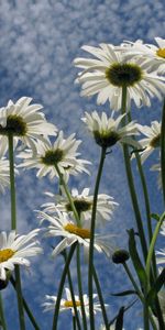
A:
[[[165,100],[163,105],[162,127],[161,127],[161,173],[162,173],[163,199],[165,205]]]

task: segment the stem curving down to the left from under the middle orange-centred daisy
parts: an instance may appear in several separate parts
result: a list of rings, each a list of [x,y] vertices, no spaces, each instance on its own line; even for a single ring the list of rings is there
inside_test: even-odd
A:
[[[57,300],[56,300],[56,305],[55,305],[52,330],[57,330],[58,312],[59,312],[59,307],[61,307],[61,299],[62,299],[62,295],[63,295],[63,289],[64,289],[64,285],[65,285],[65,278],[66,278],[66,275],[67,275],[67,271],[68,271],[70,261],[72,261],[72,257],[74,255],[76,245],[77,245],[77,242],[72,245],[70,251],[69,251],[68,256],[67,256],[67,261],[66,261],[64,270],[63,270],[63,274],[62,274],[61,283],[59,283],[59,288],[58,288],[58,294],[57,294]]]

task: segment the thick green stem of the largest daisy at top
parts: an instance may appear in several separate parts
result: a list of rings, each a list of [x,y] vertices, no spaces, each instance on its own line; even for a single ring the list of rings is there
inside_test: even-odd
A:
[[[127,87],[125,86],[122,88],[122,113],[127,113]],[[123,124],[124,124],[124,121],[125,121],[125,118],[123,118]],[[133,182],[129,150],[128,150],[127,145],[123,145],[123,155],[124,155],[125,170],[127,170],[127,176],[128,176],[128,184],[129,184],[132,206],[134,209],[141,246],[142,246],[144,260],[146,260],[147,245],[146,245],[146,241],[145,241],[145,234],[144,234],[143,223],[142,223],[142,219],[141,219],[141,212],[140,212],[135,187],[134,187],[134,182]]]

